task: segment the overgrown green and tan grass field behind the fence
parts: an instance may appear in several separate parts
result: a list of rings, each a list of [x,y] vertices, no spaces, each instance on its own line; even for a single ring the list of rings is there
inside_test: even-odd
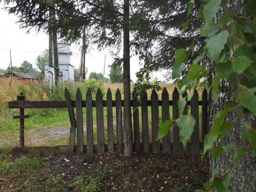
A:
[[[169,100],[172,100],[172,92],[175,85],[173,84],[162,84],[162,87],[166,87],[169,92]],[[19,114],[19,109],[8,109],[7,103],[9,101],[17,100],[17,95],[20,92],[24,92],[26,100],[41,101],[41,100],[65,100],[64,90],[65,87],[70,91],[72,100],[75,100],[75,93],[79,87],[82,94],[83,100],[85,100],[85,93],[87,87],[84,83],[66,82],[63,85],[58,85],[58,87],[49,93],[47,86],[41,82],[28,82],[28,81],[15,81],[11,82],[9,86],[9,81],[7,79],[0,79],[0,151],[9,151],[15,146],[19,146],[19,120],[14,120],[13,115]],[[117,89],[120,90],[123,99],[123,86],[122,83],[104,83],[101,87],[104,94],[103,99],[106,100],[107,89],[112,92],[112,99],[115,100],[115,93]],[[96,89],[95,89],[96,90]],[[132,91],[132,90],[131,90]],[[148,100],[150,100],[150,94],[152,90],[147,90]],[[93,92],[93,100],[95,100],[96,91]],[[201,98],[202,92],[199,92],[199,100]],[[158,91],[159,100],[161,100],[161,91]],[[139,107],[139,122],[141,127],[141,107]],[[75,110],[74,110],[75,111]],[[159,107],[160,122],[161,122],[161,106]],[[189,111],[190,113],[190,111]],[[54,145],[67,145],[69,142],[69,136],[65,135],[57,138],[46,138],[41,137],[37,134],[35,129],[39,128],[50,128],[50,127],[69,127],[69,115],[67,109],[25,109],[25,114],[30,114],[30,118],[25,119],[25,145],[26,146],[54,146]],[[172,106],[170,106],[170,117],[172,118]],[[115,107],[113,107],[113,122],[114,122],[114,135],[116,135],[115,130]],[[149,131],[150,131],[150,142],[152,142],[151,135],[151,107],[148,107],[148,121],[149,121]],[[83,122],[86,124],[86,110],[83,108]],[[104,124],[107,123],[107,111],[104,107]],[[96,124],[96,109],[93,108],[93,124]],[[199,106],[199,126],[201,127],[201,107]],[[50,129],[49,129],[50,130]],[[171,130],[172,131],[172,130]],[[107,131],[106,142],[107,142]],[[201,133],[201,131],[200,131]],[[37,134],[35,137],[35,134]],[[94,142],[96,144],[96,131],[95,131]],[[36,138],[36,139],[35,139]],[[140,137],[141,138],[141,137]],[[86,134],[84,137],[84,143],[86,144]]]

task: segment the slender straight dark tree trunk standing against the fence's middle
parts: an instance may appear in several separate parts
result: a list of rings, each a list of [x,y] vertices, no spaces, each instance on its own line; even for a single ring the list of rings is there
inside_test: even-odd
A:
[[[130,30],[129,30],[130,1],[124,0],[124,156],[132,156],[132,113],[130,89]]]

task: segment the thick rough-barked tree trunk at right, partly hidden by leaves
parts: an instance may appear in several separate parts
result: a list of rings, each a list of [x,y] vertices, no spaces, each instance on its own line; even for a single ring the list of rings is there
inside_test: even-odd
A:
[[[236,1],[236,3],[239,1]],[[223,4],[218,13],[217,13],[217,19],[219,19],[223,13],[228,9],[228,6],[230,5],[231,1]],[[236,4],[231,6],[231,9],[234,9]],[[239,7],[239,5],[238,5]],[[238,9],[237,9],[238,10]],[[211,78],[215,77],[215,67],[213,66],[211,68],[210,73],[210,83]],[[209,127],[211,129],[211,126],[213,124],[215,115],[223,108],[224,103],[229,100],[234,90],[237,89],[238,83],[236,82],[232,87],[230,87],[229,81],[222,78],[220,86],[224,89],[221,90],[218,94],[218,100],[214,101],[214,97],[211,94],[209,94]],[[216,102],[216,103],[215,103]],[[255,117],[254,117],[255,118]],[[232,128],[230,129],[230,133],[226,135],[226,137],[223,139],[222,142],[216,142],[215,145],[220,144],[221,146],[226,146],[230,144],[230,142],[234,142],[234,144],[237,147],[242,147],[243,142],[240,136],[240,126],[243,123],[241,115],[237,114],[237,110],[232,110],[230,113],[226,116],[226,121],[230,122],[232,125]],[[256,124],[252,125],[252,127],[255,129]],[[234,157],[234,149],[230,150],[227,153],[223,153],[220,157],[218,157],[216,160],[213,159],[210,153],[210,177],[211,177],[211,171],[214,168],[223,168],[219,170],[217,173],[217,177],[222,177],[226,174],[225,170],[230,170],[231,168],[231,162]],[[230,187],[232,192],[255,192],[256,191],[256,182],[251,181],[253,177],[256,177],[256,157],[252,154],[252,151],[250,153],[245,153],[245,155],[242,156],[241,160],[237,164],[236,168],[233,171],[233,175],[230,181]]]

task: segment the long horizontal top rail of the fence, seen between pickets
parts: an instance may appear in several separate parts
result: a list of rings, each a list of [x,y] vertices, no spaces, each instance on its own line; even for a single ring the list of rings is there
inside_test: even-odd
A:
[[[124,107],[124,100],[121,101],[122,107]],[[148,106],[151,106],[151,101],[147,101]],[[187,102],[190,105],[190,101]],[[76,107],[76,101],[72,101],[73,107]],[[96,101],[92,102],[93,107],[96,107]],[[162,106],[162,102],[158,101],[158,105]],[[169,106],[173,105],[173,101],[169,101]],[[202,105],[202,101],[199,101],[199,105]],[[112,106],[116,107],[115,100],[112,101]],[[131,100],[132,106],[132,100]],[[139,105],[141,106],[141,105]],[[42,108],[67,108],[66,101],[10,101],[8,102],[9,109],[42,109]],[[86,107],[86,101],[82,101],[82,107]],[[103,107],[107,107],[107,101],[103,100]]]

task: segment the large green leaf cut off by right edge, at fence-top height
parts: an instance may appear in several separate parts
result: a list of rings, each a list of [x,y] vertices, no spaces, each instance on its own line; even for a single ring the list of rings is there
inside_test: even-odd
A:
[[[254,92],[256,92],[256,88],[246,88],[244,91],[240,90],[238,97],[240,98],[240,104],[256,115],[256,97]]]

